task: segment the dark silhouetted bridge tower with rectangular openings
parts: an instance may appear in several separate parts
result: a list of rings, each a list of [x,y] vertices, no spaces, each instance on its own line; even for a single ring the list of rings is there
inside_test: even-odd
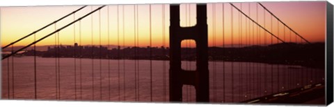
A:
[[[207,6],[196,5],[196,26],[180,26],[180,4],[170,5],[170,101],[182,101],[182,86],[196,89],[196,101],[209,101],[209,69],[207,53]],[[181,42],[192,39],[196,42],[196,70],[182,70]]]

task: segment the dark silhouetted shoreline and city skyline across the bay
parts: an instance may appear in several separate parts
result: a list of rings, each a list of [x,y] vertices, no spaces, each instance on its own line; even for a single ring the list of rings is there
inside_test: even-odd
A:
[[[169,60],[169,48],[127,47],[107,49],[104,46],[56,46],[46,51],[36,51],[39,57],[77,57],[94,59],[150,59]],[[26,50],[16,56],[33,56],[34,50]],[[247,61],[267,64],[299,65],[312,68],[325,67],[325,43],[277,43],[269,46],[241,48],[209,47],[210,61]],[[182,59],[196,60],[196,48],[182,48]]]

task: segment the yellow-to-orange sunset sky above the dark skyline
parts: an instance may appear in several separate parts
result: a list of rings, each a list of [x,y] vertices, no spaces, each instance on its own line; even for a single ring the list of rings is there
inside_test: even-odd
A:
[[[265,12],[257,3],[233,4],[257,21],[261,26],[269,30],[269,32],[272,32],[273,35],[276,35],[284,41],[290,41],[289,30],[284,28],[281,23],[278,23],[276,19],[273,18],[273,21],[271,21],[271,15]],[[326,27],[325,1],[262,2],[262,4],[308,41],[324,42]],[[1,7],[1,46],[5,46],[10,42],[24,37],[80,7],[81,6]],[[55,28],[61,28],[67,23],[74,21],[74,19],[78,19],[98,7],[100,6],[87,6],[75,15],[71,15],[63,21],[56,23],[56,25],[49,26],[49,28],[36,33],[35,38],[40,39],[53,32]],[[163,8],[165,10],[164,12]],[[269,33],[265,33],[264,30],[258,28],[256,25],[254,25],[253,30],[253,23],[241,15],[236,9],[233,8],[231,11],[231,8],[229,3],[207,4],[209,46],[271,43],[271,35],[269,35]],[[212,14],[213,10],[216,14]],[[136,42],[138,41],[138,43],[136,44],[139,46],[150,46],[151,25],[152,46],[164,45],[168,47],[169,4],[138,5],[138,29],[135,28],[134,16],[134,5],[106,6],[102,8],[102,10],[93,13],[93,15],[61,30],[61,32],[56,35],[52,35],[40,41],[36,45],[54,45],[55,39],[59,37],[59,43],[63,45],[73,45],[73,43],[76,42],[79,43],[79,45],[110,44],[134,46],[134,32],[137,30],[138,37],[136,37]],[[163,16],[165,17],[164,20]],[[180,26],[187,27],[194,25],[196,25],[196,4],[181,4]],[[163,29],[165,30],[165,37],[162,36],[164,32]],[[255,39],[252,39],[253,33]],[[258,35],[258,38],[256,38],[256,35]],[[34,35],[24,41],[18,42],[15,46],[25,46],[33,41]],[[294,35],[294,33],[292,33],[291,41],[296,41],[296,35]],[[297,41],[301,40],[297,38]],[[273,43],[277,42],[277,39],[273,39]],[[189,45],[194,46],[194,42],[182,42],[182,46]]]

